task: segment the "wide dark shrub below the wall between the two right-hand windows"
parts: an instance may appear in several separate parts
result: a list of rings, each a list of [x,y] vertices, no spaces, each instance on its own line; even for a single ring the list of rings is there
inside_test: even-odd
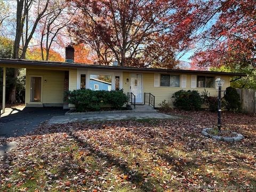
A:
[[[183,110],[198,110],[203,104],[203,100],[196,90],[180,90],[173,93],[172,98],[175,99],[173,105]]]

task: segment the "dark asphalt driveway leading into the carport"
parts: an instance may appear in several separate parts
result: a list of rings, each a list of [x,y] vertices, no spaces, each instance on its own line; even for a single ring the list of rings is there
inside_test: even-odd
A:
[[[19,137],[33,131],[40,123],[53,116],[64,115],[62,107],[11,108],[0,118],[0,137]]]

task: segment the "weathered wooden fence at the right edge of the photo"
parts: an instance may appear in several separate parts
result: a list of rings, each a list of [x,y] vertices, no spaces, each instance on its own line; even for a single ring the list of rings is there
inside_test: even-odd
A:
[[[256,90],[237,89],[242,102],[242,110],[247,113],[256,113]]]

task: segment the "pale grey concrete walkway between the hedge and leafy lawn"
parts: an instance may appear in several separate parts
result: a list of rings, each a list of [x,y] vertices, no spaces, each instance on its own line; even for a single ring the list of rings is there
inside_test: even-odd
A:
[[[89,114],[74,114],[74,115],[63,115],[54,116],[49,120],[49,124],[65,124],[69,122],[81,122],[81,121],[107,121],[107,120],[123,120],[123,119],[178,119],[178,116],[171,116],[166,114],[161,114],[155,111],[154,113],[148,113],[147,111],[127,111],[111,113],[101,112],[101,113],[89,113]]]

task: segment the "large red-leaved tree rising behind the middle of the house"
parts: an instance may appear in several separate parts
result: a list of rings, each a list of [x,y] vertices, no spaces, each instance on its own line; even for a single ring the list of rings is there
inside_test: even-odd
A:
[[[188,0],[71,2],[79,9],[71,32],[105,65],[116,60],[119,66],[171,68],[199,25],[199,11]]]

